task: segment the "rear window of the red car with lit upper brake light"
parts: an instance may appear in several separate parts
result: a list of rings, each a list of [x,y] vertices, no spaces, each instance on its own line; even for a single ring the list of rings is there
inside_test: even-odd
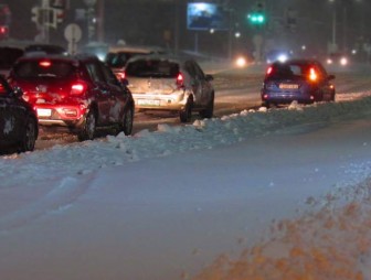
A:
[[[74,73],[74,67],[63,61],[24,61],[15,65],[14,74],[21,78],[66,78]]]

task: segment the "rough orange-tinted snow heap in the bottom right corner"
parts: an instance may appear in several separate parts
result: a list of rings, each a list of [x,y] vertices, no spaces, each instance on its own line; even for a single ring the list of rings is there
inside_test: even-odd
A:
[[[367,180],[318,201],[308,198],[311,211],[274,222],[266,240],[237,259],[220,256],[194,280],[370,279],[370,191]]]

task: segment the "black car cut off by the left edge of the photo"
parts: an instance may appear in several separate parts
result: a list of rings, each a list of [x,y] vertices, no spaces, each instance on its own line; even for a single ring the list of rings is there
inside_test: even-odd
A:
[[[22,99],[22,91],[13,89],[0,76],[0,152],[15,149],[33,151],[39,134],[38,116]]]

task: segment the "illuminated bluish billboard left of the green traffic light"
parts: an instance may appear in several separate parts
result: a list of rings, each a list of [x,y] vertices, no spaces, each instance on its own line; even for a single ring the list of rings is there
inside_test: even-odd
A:
[[[227,13],[214,3],[188,3],[187,28],[189,30],[227,30]]]

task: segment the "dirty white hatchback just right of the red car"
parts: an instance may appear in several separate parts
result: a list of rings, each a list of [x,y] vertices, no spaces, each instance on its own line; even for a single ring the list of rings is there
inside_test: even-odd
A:
[[[132,57],[125,67],[125,77],[140,110],[176,111],[181,122],[190,121],[193,110],[203,118],[213,116],[213,77],[205,75],[193,60],[167,55]]]

